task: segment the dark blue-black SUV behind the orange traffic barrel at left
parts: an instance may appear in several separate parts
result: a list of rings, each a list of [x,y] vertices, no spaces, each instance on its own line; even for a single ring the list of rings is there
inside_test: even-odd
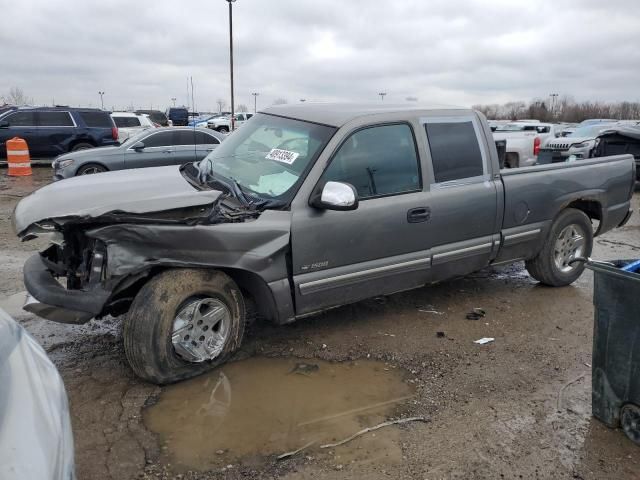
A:
[[[0,116],[0,158],[6,158],[5,142],[26,140],[32,157],[118,144],[118,129],[109,112],[94,108],[29,107]]]

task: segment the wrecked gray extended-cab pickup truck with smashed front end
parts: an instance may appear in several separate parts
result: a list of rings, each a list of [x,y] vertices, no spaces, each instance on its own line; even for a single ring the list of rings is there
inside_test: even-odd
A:
[[[473,110],[271,107],[199,163],[24,198],[16,233],[52,237],[25,264],[25,309],[126,313],[133,370],[174,382],[228,359],[254,314],[283,324],[521,260],[568,285],[594,235],[629,219],[634,169],[620,155],[500,171]]]

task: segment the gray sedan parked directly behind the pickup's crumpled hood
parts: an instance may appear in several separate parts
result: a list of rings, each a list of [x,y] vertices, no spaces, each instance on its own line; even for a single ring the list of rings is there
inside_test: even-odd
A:
[[[117,147],[60,155],[53,161],[53,179],[129,168],[182,165],[202,160],[225,138],[200,128],[158,128],[131,136]]]

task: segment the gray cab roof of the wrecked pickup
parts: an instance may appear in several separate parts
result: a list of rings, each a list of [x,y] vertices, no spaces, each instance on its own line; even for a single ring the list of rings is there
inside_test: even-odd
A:
[[[428,111],[451,111],[460,113],[472,113],[473,110],[464,107],[453,107],[450,105],[406,105],[406,104],[383,104],[380,103],[299,103],[273,105],[260,113],[278,115],[281,117],[304,120],[307,122],[320,123],[331,127],[341,127],[351,120],[381,113],[426,113]]]

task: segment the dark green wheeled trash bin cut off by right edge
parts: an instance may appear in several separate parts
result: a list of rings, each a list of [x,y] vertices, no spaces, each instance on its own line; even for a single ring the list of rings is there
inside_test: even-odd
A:
[[[640,274],[633,260],[589,261],[594,272],[592,410],[640,445]]]

